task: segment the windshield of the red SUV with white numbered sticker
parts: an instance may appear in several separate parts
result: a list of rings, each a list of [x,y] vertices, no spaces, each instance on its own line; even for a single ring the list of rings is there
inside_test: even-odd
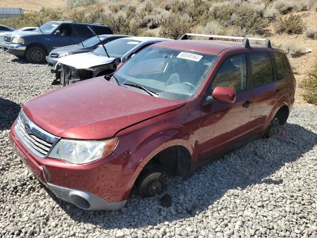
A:
[[[151,46],[128,60],[112,78],[122,86],[141,85],[161,98],[189,100],[197,94],[217,58],[217,55]]]

